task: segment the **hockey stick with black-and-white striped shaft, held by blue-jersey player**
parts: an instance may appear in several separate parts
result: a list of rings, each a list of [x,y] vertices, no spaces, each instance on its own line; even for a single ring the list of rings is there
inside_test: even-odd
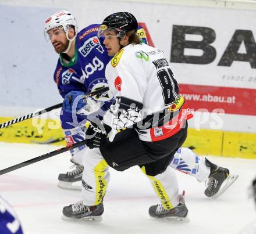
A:
[[[88,98],[88,97],[91,97],[91,96],[94,96],[94,95],[97,95],[97,94],[101,94],[101,93],[104,93],[108,90],[109,90],[108,87],[104,87],[104,88],[98,89],[94,92],[87,93],[86,95],[84,95],[84,98]],[[37,111],[35,113],[27,114],[26,116],[23,116],[23,117],[15,118],[14,120],[10,120],[10,121],[7,121],[5,123],[2,123],[2,124],[0,124],[0,128],[5,128],[5,127],[8,127],[12,124],[16,124],[16,123],[22,122],[24,120],[29,120],[29,118],[33,118],[35,116],[40,116],[40,114],[47,113],[47,112],[49,112],[51,110],[54,110],[54,109],[58,109],[59,107],[62,107],[62,103],[56,104],[54,106],[50,106],[48,108],[45,108],[44,110],[40,110],[40,111]]]

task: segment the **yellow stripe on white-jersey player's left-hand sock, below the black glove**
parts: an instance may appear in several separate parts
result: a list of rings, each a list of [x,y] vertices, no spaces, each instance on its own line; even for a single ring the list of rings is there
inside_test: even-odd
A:
[[[94,167],[94,176],[95,176],[95,183],[96,183],[96,191],[95,191],[95,203],[94,206],[101,203],[105,193],[106,193],[106,186],[107,182],[105,178],[105,169],[108,167],[108,164],[103,159],[101,160],[95,167]]]

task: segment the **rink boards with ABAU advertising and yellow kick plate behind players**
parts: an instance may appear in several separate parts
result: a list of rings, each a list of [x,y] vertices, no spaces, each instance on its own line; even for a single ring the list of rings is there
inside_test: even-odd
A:
[[[144,23],[154,45],[165,53],[180,93],[195,110],[185,145],[198,154],[256,159],[255,3],[250,7],[239,1],[195,0],[0,3],[0,24],[8,32],[1,39],[5,46],[0,55],[5,59],[0,67],[4,87],[0,123],[62,102],[52,79],[58,55],[42,36],[49,15],[70,10],[81,29],[126,10]],[[58,116],[47,118],[41,127],[27,120],[0,129],[0,141],[65,145],[59,121],[52,120]]]

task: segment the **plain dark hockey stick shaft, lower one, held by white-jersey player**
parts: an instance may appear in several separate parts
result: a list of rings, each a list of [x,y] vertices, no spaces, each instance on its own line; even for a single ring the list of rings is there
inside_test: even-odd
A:
[[[57,150],[54,150],[54,151],[46,153],[46,154],[42,154],[42,155],[40,155],[38,157],[35,157],[34,159],[23,161],[22,163],[19,163],[19,164],[16,164],[16,165],[12,165],[11,167],[8,167],[8,168],[5,168],[3,170],[0,170],[0,175],[6,174],[6,173],[8,173],[10,171],[15,171],[15,170],[17,170],[19,168],[22,168],[22,167],[26,167],[27,165],[36,163],[38,161],[41,161],[41,160],[44,160],[44,159],[48,159],[49,157],[55,156],[57,154],[66,152],[66,151],[68,151],[70,149],[74,149],[76,147],[79,147],[79,146],[85,145],[85,144],[86,144],[86,140],[74,143],[74,145],[66,146],[66,147],[63,147],[61,149],[57,149]]]

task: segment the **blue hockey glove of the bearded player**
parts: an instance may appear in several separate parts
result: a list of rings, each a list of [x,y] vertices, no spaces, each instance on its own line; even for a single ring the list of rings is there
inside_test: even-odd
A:
[[[66,94],[62,109],[67,112],[76,112],[86,106],[86,98],[83,98],[84,92],[70,91]]]

